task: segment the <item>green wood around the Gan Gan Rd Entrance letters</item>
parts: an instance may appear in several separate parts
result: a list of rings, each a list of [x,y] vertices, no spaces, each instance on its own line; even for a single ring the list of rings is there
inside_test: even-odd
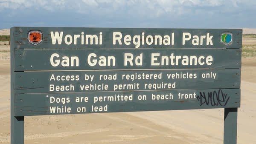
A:
[[[58,53],[59,58],[63,56],[77,56],[79,58],[79,66],[52,66],[50,63],[50,57],[52,54]],[[90,66],[88,64],[88,55],[90,53],[95,53],[96,58],[99,62],[99,56],[114,56],[116,58],[115,66]],[[124,55],[125,53],[133,53],[134,59],[135,56],[143,54],[143,63],[142,66],[135,65],[130,66],[129,63],[127,66],[124,66]],[[182,65],[181,59],[175,65],[171,65],[171,60],[169,60],[169,65],[161,65],[161,60],[158,57],[157,61],[160,66],[151,66],[151,53],[160,53],[161,55],[170,56],[172,53],[174,55],[187,55],[187,56],[201,56],[203,55],[206,59],[208,55],[211,55],[213,58],[212,64],[207,65]],[[23,49],[15,50],[15,68],[14,71],[36,71],[36,70],[92,70],[92,69],[239,69],[241,68],[241,49]],[[56,59],[56,58],[54,58]],[[205,60],[204,59],[204,60]],[[92,58],[90,58],[92,60]],[[70,62],[71,63],[71,62]]]

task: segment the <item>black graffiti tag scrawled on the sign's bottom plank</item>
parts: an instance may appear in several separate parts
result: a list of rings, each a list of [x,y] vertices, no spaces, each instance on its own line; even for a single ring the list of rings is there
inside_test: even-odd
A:
[[[227,94],[223,93],[221,89],[218,90],[218,93],[216,91],[213,92],[200,92],[200,96],[198,95],[197,100],[200,101],[200,106],[203,104],[214,106],[226,106],[230,96],[227,96]]]

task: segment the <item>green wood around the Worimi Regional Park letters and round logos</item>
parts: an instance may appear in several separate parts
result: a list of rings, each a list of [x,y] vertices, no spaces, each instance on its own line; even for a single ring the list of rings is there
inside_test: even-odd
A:
[[[43,33],[42,43],[34,46],[30,44],[27,40],[27,34],[31,30],[40,30]],[[122,45],[113,45],[113,32],[121,32],[122,37],[125,35],[142,35],[142,32],[147,35],[171,35],[175,33],[175,43],[174,45],[140,45],[140,48],[196,48],[196,49],[241,49],[242,41],[242,29],[150,29],[150,28],[64,28],[64,27],[14,27],[14,40],[15,40],[15,49],[37,49],[37,48],[47,48],[47,49],[77,49],[77,48],[93,48],[93,49],[105,49],[105,48],[135,48],[135,45],[131,43],[130,45],[125,45],[122,42]],[[84,35],[99,35],[102,32],[102,45],[81,45],[81,43],[70,44],[70,45],[52,45],[52,39],[50,32],[64,32],[65,35],[81,35],[81,32],[84,32]],[[213,45],[192,45],[191,43],[182,44],[182,33],[189,32],[191,35],[206,35],[209,33],[213,35],[212,43]],[[224,32],[231,32],[233,34],[233,42],[230,45],[224,45],[221,43],[221,34]],[[64,37],[63,40],[64,41]]]

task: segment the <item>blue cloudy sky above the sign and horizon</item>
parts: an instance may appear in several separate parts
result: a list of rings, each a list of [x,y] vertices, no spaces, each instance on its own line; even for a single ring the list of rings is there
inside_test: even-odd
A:
[[[0,0],[0,29],[256,28],[256,0]]]

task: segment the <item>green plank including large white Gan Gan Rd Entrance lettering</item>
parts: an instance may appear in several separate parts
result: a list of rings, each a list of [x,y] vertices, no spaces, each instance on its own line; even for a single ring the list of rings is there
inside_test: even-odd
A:
[[[241,68],[241,49],[16,49],[14,54],[15,71]]]

